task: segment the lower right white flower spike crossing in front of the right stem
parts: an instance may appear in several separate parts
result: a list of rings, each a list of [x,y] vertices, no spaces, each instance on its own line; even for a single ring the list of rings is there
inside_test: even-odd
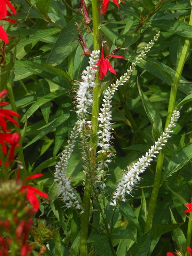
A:
[[[153,161],[153,158],[156,158],[156,154],[162,149],[162,146],[165,145],[167,139],[170,137],[170,133],[173,132],[173,127],[176,126],[176,122],[179,118],[179,111],[173,111],[171,121],[169,126],[165,129],[162,136],[155,142],[155,145],[151,146],[149,151],[139,158],[139,160],[133,164],[128,171],[124,174],[122,180],[118,183],[115,193],[113,194],[113,202],[110,205],[116,205],[117,200],[126,201],[125,195],[132,193],[132,187],[140,181],[141,177],[139,175],[143,173],[146,168],[150,165],[150,162]]]

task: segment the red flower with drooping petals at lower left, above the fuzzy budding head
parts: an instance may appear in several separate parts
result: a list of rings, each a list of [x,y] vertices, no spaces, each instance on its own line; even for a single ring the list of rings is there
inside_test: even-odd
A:
[[[30,177],[24,179],[22,182],[24,183],[25,181],[28,181],[30,179],[36,179],[36,178],[42,177],[42,176],[43,176],[43,174],[34,174],[34,175],[31,175]],[[19,179],[19,173],[17,174],[17,179]],[[34,208],[35,211],[38,211],[38,209],[39,209],[39,201],[38,201],[38,198],[36,197],[36,194],[38,194],[44,198],[49,198],[49,196],[46,193],[44,193],[41,190],[38,190],[37,188],[34,188],[30,185],[23,185],[20,188],[20,192],[27,193],[28,201],[29,201],[30,205],[32,205],[32,207]]]

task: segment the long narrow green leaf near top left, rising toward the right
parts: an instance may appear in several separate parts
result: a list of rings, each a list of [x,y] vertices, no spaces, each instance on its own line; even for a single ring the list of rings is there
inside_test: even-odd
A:
[[[43,30],[38,30],[32,36],[30,36],[29,38],[22,39],[17,44],[17,47],[29,45],[29,44],[31,44],[33,42],[40,41],[41,39],[43,39],[43,38],[45,38],[47,36],[52,36],[54,34],[57,34],[60,31],[61,30],[59,28],[47,28],[47,29],[43,29]]]

